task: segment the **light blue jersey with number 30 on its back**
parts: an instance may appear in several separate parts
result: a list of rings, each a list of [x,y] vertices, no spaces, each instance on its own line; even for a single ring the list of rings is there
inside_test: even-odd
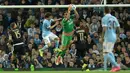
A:
[[[102,18],[102,27],[106,27],[104,35],[104,42],[116,42],[116,28],[120,27],[120,24],[116,17],[111,14],[106,14]]]

